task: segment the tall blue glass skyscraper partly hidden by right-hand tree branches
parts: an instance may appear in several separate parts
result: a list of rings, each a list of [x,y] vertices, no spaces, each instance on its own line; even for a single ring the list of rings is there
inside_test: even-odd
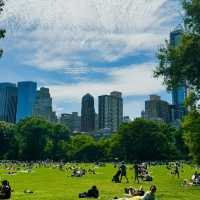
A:
[[[182,39],[183,31],[175,30],[170,33],[170,45],[177,47]],[[187,85],[183,81],[178,87],[172,90],[172,120],[180,121],[187,113],[187,108],[184,106],[185,98],[187,97]]]

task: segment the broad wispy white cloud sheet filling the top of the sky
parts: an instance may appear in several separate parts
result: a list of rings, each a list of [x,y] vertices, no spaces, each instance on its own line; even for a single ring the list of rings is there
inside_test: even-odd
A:
[[[169,9],[173,13],[176,4],[174,0],[8,0],[0,22],[14,41],[12,49],[27,50],[23,52],[27,65],[84,73],[87,60],[112,62],[157,48],[176,17],[166,13]],[[86,55],[84,61],[74,60],[80,52]]]

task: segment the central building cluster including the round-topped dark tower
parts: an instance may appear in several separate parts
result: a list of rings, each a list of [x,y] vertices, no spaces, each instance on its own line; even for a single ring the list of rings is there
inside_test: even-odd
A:
[[[123,123],[122,93],[113,91],[99,96],[98,114],[95,112],[94,97],[86,94],[82,97],[81,116],[78,113],[61,114],[60,123],[73,132],[109,135]]]

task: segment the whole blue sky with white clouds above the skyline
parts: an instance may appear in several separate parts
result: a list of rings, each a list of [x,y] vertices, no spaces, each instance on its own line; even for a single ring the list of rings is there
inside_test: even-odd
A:
[[[121,91],[139,117],[150,94],[171,101],[153,69],[181,12],[178,0],[6,0],[0,82],[49,87],[58,114],[80,112],[86,93],[98,112],[99,95]]]

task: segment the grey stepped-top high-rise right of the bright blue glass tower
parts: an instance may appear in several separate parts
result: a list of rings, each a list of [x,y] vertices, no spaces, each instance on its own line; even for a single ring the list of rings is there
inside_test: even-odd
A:
[[[53,113],[52,98],[49,93],[49,88],[42,87],[37,91],[36,101],[33,108],[33,115],[42,117],[52,122],[54,120],[52,119]]]

